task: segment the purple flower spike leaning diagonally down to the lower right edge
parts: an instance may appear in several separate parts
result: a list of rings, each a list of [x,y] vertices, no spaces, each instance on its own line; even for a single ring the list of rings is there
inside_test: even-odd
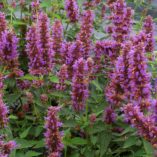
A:
[[[127,104],[123,107],[124,118],[133,127],[137,128],[140,136],[157,145],[157,126],[151,116],[145,116],[139,105]]]

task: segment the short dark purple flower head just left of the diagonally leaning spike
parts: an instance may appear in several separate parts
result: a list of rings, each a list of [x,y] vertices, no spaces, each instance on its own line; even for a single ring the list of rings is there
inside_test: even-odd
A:
[[[112,124],[115,122],[116,120],[116,113],[114,111],[114,109],[109,106],[104,110],[104,115],[103,115],[103,121],[107,124]]]

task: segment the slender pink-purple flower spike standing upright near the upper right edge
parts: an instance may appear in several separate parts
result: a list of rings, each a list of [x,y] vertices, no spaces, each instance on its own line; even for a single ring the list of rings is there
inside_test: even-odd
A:
[[[143,31],[146,33],[146,52],[153,52],[155,47],[155,39],[154,39],[154,26],[153,26],[153,19],[151,16],[147,16],[144,24],[143,24]]]

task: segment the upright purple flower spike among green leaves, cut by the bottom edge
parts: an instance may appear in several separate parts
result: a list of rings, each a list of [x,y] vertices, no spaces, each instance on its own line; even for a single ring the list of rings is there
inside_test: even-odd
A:
[[[48,114],[45,119],[45,138],[49,157],[60,157],[60,153],[63,149],[63,144],[61,141],[62,134],[59,131],[59,128],[62,126],[62,123],[57,117],[57,113],[59,110],[59,107],[49,107]]]

